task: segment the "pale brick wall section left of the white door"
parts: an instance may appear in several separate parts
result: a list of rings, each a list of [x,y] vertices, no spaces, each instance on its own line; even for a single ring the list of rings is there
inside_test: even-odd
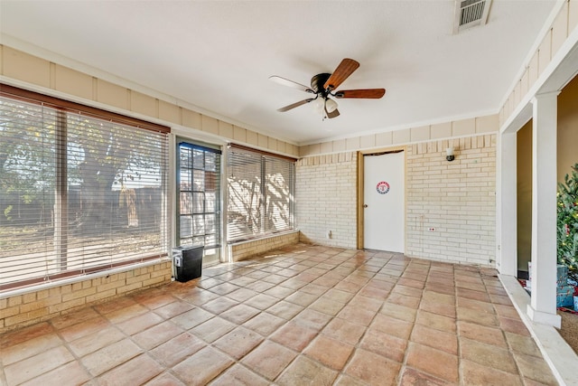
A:
[[[301,241],[357,248],[357,167],[357,152],[297,161],[295,198]]]

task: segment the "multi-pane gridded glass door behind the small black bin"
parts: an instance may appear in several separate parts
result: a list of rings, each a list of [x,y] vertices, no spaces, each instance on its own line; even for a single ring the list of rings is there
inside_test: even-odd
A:
[[[220,150],[180,142],[178,245],[202,245],[204,262],[219,261]]]

